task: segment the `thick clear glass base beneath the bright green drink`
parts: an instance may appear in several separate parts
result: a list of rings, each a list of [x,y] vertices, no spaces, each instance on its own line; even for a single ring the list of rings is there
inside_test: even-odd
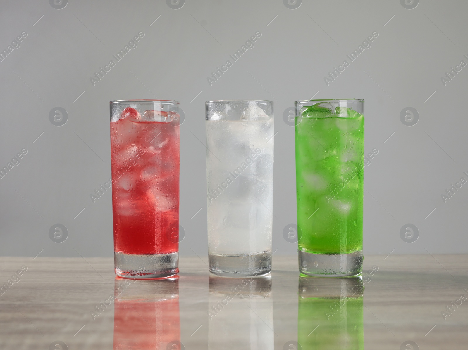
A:
[[[362,272],[362,250],[349,254],[316,254],[298,250],[299,271],[309,276],[344,277]]]

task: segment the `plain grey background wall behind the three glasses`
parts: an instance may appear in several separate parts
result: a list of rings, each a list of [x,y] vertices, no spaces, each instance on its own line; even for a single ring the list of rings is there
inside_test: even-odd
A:
[[[181,126],[182,255],[207,254],[205,100],[275,102],[274,232],[276,254],[297,246],[283,238],[296,222],[294,129],[283,111],[294,100],[366,100],[365,254],[468,253],[468,183],[446,203],[441,194],[468,180],[466,93],[468,66],[443,85],[441,77],[468,63],[466,1],[193,1],[180,9],[165,1],[2,1],[0,49],[26,31],[21,46],[0,62],[0,165],[26,148],[21,164],[0,179],[0,254],[112,256],[109,101],[174,99]],[[156,21],[155,21],[156,20]],[[90,77],[133,36],[145,36],[95,86]],[[207,77],[257,31],[262,36],[218,81]],[[354,61],[374,31],[379,36]],[[350,66],[327,86],[324,77]],[[55,126],[49,112],[63,107]],[[406,126],[405,107],[419,120]],[[201,141],[200,141],[201,140]],[[84,208],[84,210],[83,210]],[[200,210],[201,209],[201,210]],[[60,223],[63,243],[49,238]],[[403,225],[419,230],[414,243]]]

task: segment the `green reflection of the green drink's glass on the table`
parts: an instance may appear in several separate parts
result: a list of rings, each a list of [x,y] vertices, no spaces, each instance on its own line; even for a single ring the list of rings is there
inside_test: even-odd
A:
[[[299,277],[298,343],[303,350],[364,349],[362,277]]]

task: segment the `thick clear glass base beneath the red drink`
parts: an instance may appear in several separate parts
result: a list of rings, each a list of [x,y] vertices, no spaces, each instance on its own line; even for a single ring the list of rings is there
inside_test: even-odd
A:
[[[179,272],[179,253],[124,254],[114,252],[116,275],[128,279],[157,279]]]

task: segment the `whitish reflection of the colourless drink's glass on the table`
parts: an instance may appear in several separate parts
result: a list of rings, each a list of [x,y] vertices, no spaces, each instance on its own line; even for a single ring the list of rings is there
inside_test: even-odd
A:
[[[274,349],[271,275],[210,275],[208,349]]]

